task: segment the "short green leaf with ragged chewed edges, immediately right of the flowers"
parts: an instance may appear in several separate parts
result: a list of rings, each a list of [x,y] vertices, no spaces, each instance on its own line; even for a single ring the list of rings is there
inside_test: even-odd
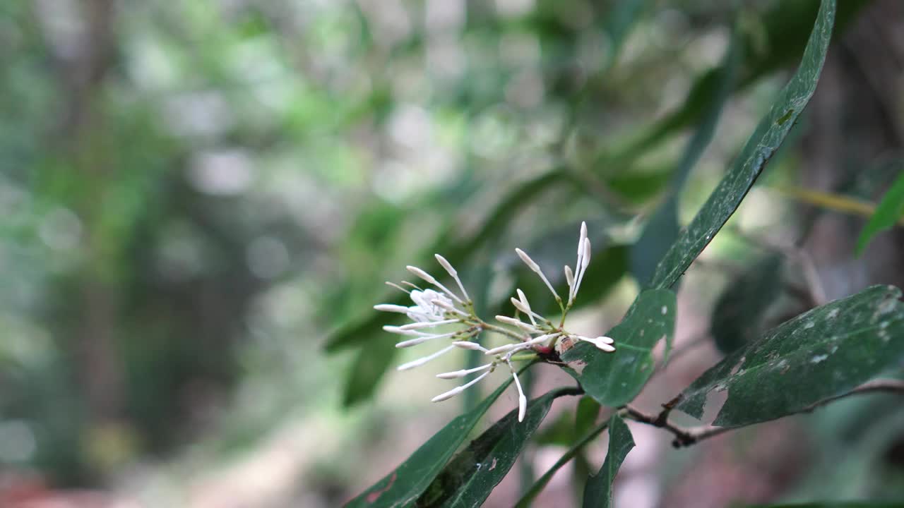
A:
[[[560,353],[566,363],[563,369],[603,406],[624,406],[634,400],[653,373],[656,343],[665,339],[667,348],[671,347],[674,323],[674,293],[646,290],[637,296],[622,322],[607,333],[615,339],[615,353],[580,342]]]

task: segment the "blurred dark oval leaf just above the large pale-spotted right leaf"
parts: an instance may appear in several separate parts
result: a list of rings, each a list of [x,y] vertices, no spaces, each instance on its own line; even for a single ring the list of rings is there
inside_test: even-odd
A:
[[[722,353],[731,353],[760,333],[766,311],[782,292],[782,257],[771,254],[731,281],[719,296],[710,325]]]

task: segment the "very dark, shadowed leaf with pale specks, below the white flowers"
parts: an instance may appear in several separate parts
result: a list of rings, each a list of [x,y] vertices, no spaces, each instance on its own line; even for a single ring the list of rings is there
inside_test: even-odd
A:
[[[517,409],[505,415],[449,462],[416,505],[466,508],[483,504],[546,417],[552,400],[573,392],[570,388],[552,390],[531,400],[520,423]]]

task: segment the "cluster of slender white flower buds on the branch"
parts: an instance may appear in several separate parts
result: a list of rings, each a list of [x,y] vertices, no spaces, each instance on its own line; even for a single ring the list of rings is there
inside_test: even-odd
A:
[[[411,337],[401,341],[400,343],[397,343],[396,347],[410,347],[419,343],[426,343],[428,341],[441,339],[449,339],[452,341],[451,344],[447,345],[443,349],[440,349],[436,353],[431,353],[413,362],[408,362],[400,365],[398,367],[400,371],[406,371],[408,369],[419,367],[420,365],[438,358],[438,356],[448,353],[455,348],[481,351],[485,355],[494,357],[494,360],[492,362],[486,363],[485,365],[481,365],[474,369],[466,369],[455,372],[443,372],[437,374],[437,377],[441,379],[457,379],[464,378],[476,372],[482,372],[475,379],[434,397],[434,402],[438,402],[439,400],[447,400],[451,397],[456,396],[458,393],[461,393],[462,391],[473,386],[476,382],[484,379],[487,375],[490,374],[490,372],[494,372],[495,368],[498,365],[505,364],[508,367],[509,371],[512,373],[515,386],[518,389],[518,421],[523,421],[524,414],[527,411],[527,398],[524,396],[524,390],[522,389],[521,381],[518,379],[518,374],[512,364],[513,361],[519,359],[517,357],[514,357],[515,353],[551,351],[551,348],[564,338],[592,343],[600,350],[607,353],[612,353],[615,351],[615,347],[612,345],[613,340],[609,337],[585,337],[579,334],[571,334],[563,328],[565,324],[565,316],[568,315],[569,309],[574,305],[574,299],[578,295],[580,283],[583,280],[584,274],[587,272],[587,267],[590,263],[590,240],[587,238],[586,223],[582,222],[580,225],[580,237],[578,240],[578,260],[575,263],[575,268],[572,270],[569,266],[565,266],[565,279],[568,282],[569,286],[567,303],[563,304],[561,297],[556,292],[555,288],[552,287],[549,279],[546,278],[546,275],[543,274],[540,266],[536,262],[534,262],[530,256],[528,256],[522,249],[515,249],[515,252],[529,268],[536,272],[536,274],[542,279],[546,287],[549,287],[552,295],[555,297],[556,302],[559,304],[562,312],[561,321],[558,326],[553,325],[551,320],[547,319],[546,317],[533,312],[531,304],[527,300],[527,296],[524,295],[524,292],[521,289],[517,290],[518,297],[512,298],[512,304],[519,311],[519,313],[523,313],[528,317],[530,321],[529,323],[524,322],[517,317],[509,317],[506,315],[497,315],[496,320],[504,323],[505,325],[512,325],[514,329],[486,323],[483,319],[475,314],[474,303],[467,295],[465,286],[461,283],[461,279],[458,278],[456,269],[452,267],[447,259],[443,258],[439,254],[436,255],[436,259],[439,265],[445,268],[449,276],[456,281],[458,289],[461,291],[460,296],[451,291],[448,287],[443,286],[436,278],[428,274],[426,271],[417,267],[409,266],[406,268],[408,268],[408,270],[413,275],[421,278],[428,284],[437,287],[438,290],[421,289],[420,287],[407,281],[403,281],[401,285],[387,282],[387,284],[389,284],[390,286],[396,287],[401,291],[408,293],[414,305],[398,306],[391,304],[381,304],[373,306],[373,308],[375,308],[376,310],[400,313],[407,315],[410,318],[411,323],[407,325],[383,326],[383,329],[387,332],[407,335]],[[441,327],[441,331],[430,331],[431,329],[438,327]],[[451,327],[452,330],[445,331],[449,327]],[[476,342],[477,340],[479,340],[480,334],[484,331],[492,331],[495,333],[503,334],[507,338],[512,339],[514,343],[505,344],[499,347],[494,347],[492,349],[486,349],[484,346]],[[529,355],[528,358],[535,358],[535,355]]]

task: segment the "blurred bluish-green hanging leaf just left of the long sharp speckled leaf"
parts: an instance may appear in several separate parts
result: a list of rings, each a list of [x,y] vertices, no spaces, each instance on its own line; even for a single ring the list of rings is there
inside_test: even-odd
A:
[[[722,107],[734,89],[740,55],[738,36],[733,33],[718,71],[715,93],[703,113],[700,127],[688,142],[684,155],[674,171],[668,197],[646,222],[644,233],[631,248],[631,272],[641,284],[645,284],[653,277],[656,264],[663,259],[665,252],[678,238],[678,194],[681,193],[693,166],[700,160],[716,131]]]

